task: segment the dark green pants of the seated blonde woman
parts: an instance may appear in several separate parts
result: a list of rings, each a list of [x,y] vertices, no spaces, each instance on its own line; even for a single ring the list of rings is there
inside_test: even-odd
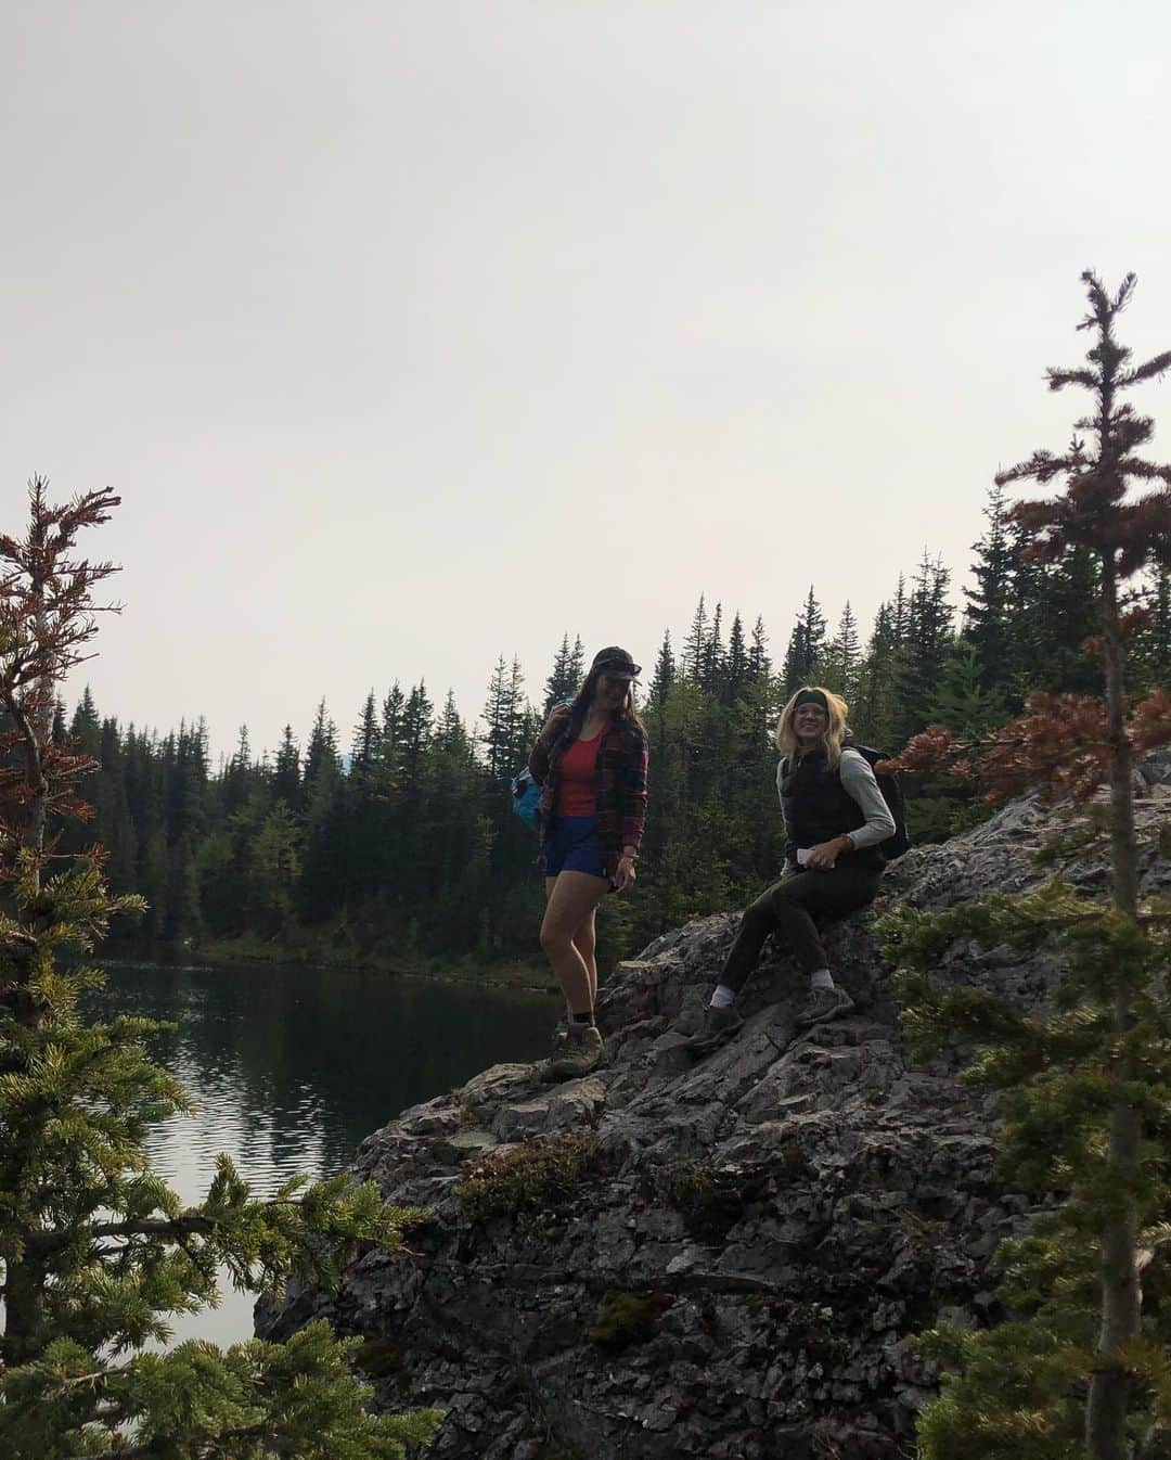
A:
[[[756,967],[769,933],[775,933],[781,948],[793,953],[802,972],[825,968],[825,948],[813,918],[844,917],[864,908],[875,901],[880,876],[875,867],[840,863],[831,872],[794,872],[774,882],[745,908],[720,983],[739,993]]]

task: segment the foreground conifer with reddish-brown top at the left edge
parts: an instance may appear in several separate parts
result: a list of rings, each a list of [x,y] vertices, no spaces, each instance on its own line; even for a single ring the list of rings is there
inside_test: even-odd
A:
[[[77,956],[112,917],[142,910],[110,895],[98,854],[50,860],[57,822],[85,815],[79,781],[95,771],[53,743],[53,695],[93,637],[92,596],[114,571],[70,553],[117,502],[102,491],[51,507],[35,479],[28,536],[0,537],[0,705],[19,750],[0,769],[0,1453],[402,1457],[434,1421],[369,1416],[346,1362],[353,1345],[326,1324],[288,1345],[147,1349],[168,1314],[215,1298],[220,1264],[253,1291],[295,1270],[330,1282],[339,1240],[397,1245],[407,1213],[345,1177],[258,1200],[226,1158],[207,1197],[184,1206],[145,1146],[152,1124],[188,1107],[149,1057],[158,1026],[91,1022],[79,1004],[102,975]]]

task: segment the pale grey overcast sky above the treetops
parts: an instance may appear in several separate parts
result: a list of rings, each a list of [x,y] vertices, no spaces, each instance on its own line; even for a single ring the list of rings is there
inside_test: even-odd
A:
[[[114,486],[99,710],[254,749],[698,594],[777,657],[1171,345],[1171,7],[0,0],[0,507]],[[1137,403],[1162,416],[1171,385]]]

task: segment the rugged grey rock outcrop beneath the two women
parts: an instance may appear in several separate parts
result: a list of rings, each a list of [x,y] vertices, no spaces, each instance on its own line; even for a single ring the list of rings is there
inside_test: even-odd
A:
[[[1165,772],[1142,781],[1145,828],[1171,810]],[[1104,850],[1032,861],[1069,819],[1024,800],[913,850],[875,911],[1054,870],[1101,891]],[[1167,863],[1143,858],[1143,891],[1165,895]],[[908,1064],[872,920],[828,934],[848,1019],[797,1034],[805,988],[767,956],[743,1031],[699,1063],[685,1032],[737,915],[657,939],[609,980],[593,1075],[550,1085],[540,1066],[496,1066],[369,1136],[355,1172],[426,1209],[410,1254],[359,1257],[336,1301],[302,1294],[263,1330],[326,1313],[365,1334],[381,1405],[447,1410],[444,1460],[910,1453],[937,1374],[908,1337],[996,1317],[993,1253],[1032,1207],[997,1184],[994,1108],[955,1061]],[[1054,971],[971,946],[940,969],[1029,1006]]]

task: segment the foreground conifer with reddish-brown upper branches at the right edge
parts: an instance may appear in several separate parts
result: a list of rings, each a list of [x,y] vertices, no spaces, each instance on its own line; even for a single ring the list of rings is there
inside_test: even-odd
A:
[[[1153,1453],[1148,1441],[1165,1440],[1171,1425],[1171,1324],[1158,1299],[1143,1314],[1142,1282],[1153,1254],[1148,1244],[1164,1240],[1156,1223],[1171,1200],[1162,1153],[1171,1137],[1171,943],[1165,912],[1139,899],[1132,780],[1136,752],[1171,742],[1171,692],[1158,689],[1127,708],[1121,606],[1129,580],[1149,564],[1171,564],[1171,466],[1137,454],[1153,422],[1118,400],[1171,369],[1171,350],[1129,366],[1114,326],[1134,276],[1113,298],[1094,274],[1082,277],[1091,308],[1080,328],[1094,331],[1088,364],[1050,369],[1048,383],[1092,394],[1091,412],[1075,426],[1085,437],[1075,435],[1059,456],[1034,453],[999,480],[1064,480],[1056,498],[1019,502],[1010,515],[1028,534],[1032,561],[1092,556],[1102,692],[1035,694],[1025,717],[1000,727],[990,743],[961,752],[945,731],[932,730],[902,756],[904,768],[926,768],[962,753],[962,764],[974,762],[1000,794],[1040,785],[1085,802],[1102,781],[1110,794],[1108,907],[1054,882],[1031,898],[990,898],[937,918],[907,911],[891,929],[908,969],[911,1035],[932,1044],[958,1029],[975,1032],[986,1048],[972,1076],[1009,1092],[1002,1165],[1026,1188],[1069,1193],[1002,1254],[1013,1318],[993,1334],[936,1345],[965,1372],[924,1412],[927,1460],[974,1451],[1016,1456],[1025,1434],[1037,1456],[1137,1460]],[[1136,482],[1161,485],[1132,495]],[[972,934],[1026,946],[1060,937],[1066,967],[1053,1012],[1026,1019],[991,994],[933,987],[929,969],[939,949]]]

